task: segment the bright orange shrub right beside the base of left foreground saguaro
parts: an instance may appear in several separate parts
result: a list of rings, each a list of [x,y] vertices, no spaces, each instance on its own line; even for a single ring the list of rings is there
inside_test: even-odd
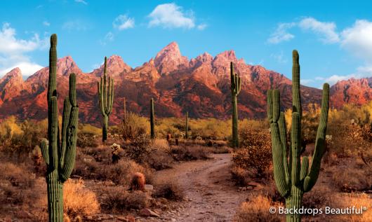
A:
[[[100,204],[83,180],[68,179],[63,186],[63,211],[73,217],[90,216],[100,211]]]

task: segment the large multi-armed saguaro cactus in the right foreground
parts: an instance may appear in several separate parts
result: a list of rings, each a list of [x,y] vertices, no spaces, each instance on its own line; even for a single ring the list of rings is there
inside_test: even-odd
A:
[[[279,193],[286,198],[286,221],[300,221],[301,217],[296,209],[300,209],[303,193],[312,189],[317,182],[321,158],[324,154],[326,127],[328,121],[329,85],[323,85],[323,99],[321,101],[321,114],[315,141],[312,164],[309,168],[309,158],[300,158],[301,152],[301,97],[300,97],[300,64],[298,52],[293,50],[292,69],[292,132],[291,148],[286,142],[286,120],[280,111],[279,90],[267,92],[267,116],[270,120],[272,138],[272,160],[274,165],[274,181]]]

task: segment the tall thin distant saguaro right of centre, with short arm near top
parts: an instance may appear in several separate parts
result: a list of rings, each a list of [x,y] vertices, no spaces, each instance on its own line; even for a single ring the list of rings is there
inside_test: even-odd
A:
[[[241,90],[240,77],[234,73],[234,64],[230,62],[231,97],[232,97],[232,147],[239,146],[238,139],[238,101],[237,95]]]

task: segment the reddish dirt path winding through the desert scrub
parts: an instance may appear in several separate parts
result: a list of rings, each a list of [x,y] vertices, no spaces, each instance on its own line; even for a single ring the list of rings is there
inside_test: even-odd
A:
[[[185,189],[187,201],[177,211],[164,212],[166,221],[232,221],[244,195],[231,181],[230,154],[212,155],[212,160],[183,162],[155,175],[156,181],[174,180]]]

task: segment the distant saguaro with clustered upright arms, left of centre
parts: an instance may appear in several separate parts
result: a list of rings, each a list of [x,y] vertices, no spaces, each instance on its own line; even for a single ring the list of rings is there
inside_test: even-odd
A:
[[[107,82],[107,57],[105,57],[105,69],[103,69],[103,76],[101,76],[100,82],[97,83],[98,97],[100,101],[100,110],[102,113],[102,141],[107,140],[107,128],[109,125],[109,115],[112,112],[112,104],[114,104],[114,80],[108,77]],[[107,86],[106,86],[107,85]]]

